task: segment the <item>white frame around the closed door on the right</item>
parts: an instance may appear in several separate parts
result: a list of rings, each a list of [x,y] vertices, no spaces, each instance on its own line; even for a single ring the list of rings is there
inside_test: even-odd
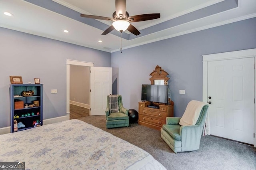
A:
[[[228,60],[228,59],[240,59],[240,58],[249,58],[254,57],[254,101],[256,96],[256,48],[254,49],[246,49],[240,51],[231,51],[225,53],[216,53],[216,54],[208,54],[202,55],[203,57],[203,102],[207,102],[207,91],[208,91],[208,62],[209,61],[220,61],[220,60]],[[256,105],[254,102],[254,147],[256,147]]]

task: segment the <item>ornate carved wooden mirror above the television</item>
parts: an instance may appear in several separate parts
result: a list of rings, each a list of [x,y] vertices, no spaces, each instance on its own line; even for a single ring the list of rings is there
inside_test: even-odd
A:
[[[159,67],[159,65],[156,65],[155,70],[150,73],[151,78],[151,84],[158,84],[158,85],[168,85],[168,80],[170,78],[166,77],[167,75],[169,75],[166,71],[164,71],[164,69],[162,69],[162,67]]]

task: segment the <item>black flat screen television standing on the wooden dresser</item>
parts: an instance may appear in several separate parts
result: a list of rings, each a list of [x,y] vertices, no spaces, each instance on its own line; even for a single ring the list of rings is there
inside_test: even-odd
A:
[[[168,85],[142,85],[141,100],[168,103]]]

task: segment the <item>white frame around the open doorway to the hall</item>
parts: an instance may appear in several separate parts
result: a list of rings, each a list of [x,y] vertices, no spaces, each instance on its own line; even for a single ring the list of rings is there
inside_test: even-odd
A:
[[[70,65],[81,65],[87,67],[94,67],[94,63],[86,62],[86,61],[77,61],[72,59],[66,59],[66,115],[69,120],[70,116]]]

